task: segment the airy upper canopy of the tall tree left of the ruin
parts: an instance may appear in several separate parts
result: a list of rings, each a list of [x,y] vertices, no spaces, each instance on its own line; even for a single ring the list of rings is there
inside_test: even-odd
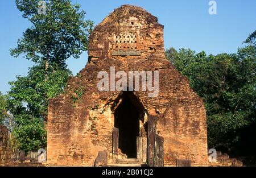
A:
[[[88,48],[89,33],[93,22],[85,20],[85,11],[69,0],[55,0],[46,3],[46,14],[38,14],[35,0],[16,0],[23,17],[30,20],[32,27],[23,32],[18,46],[11,49],[11,55],[18,57],[25,53],[35,63],[48,61],[65,66],[65,60],[79,58]]]

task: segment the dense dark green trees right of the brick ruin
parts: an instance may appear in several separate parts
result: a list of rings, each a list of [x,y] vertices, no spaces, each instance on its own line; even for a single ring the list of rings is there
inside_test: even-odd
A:
[[[255,155],[256,31],[237,53],[207,56],[204,51],[166,49],[207,109],[208,147],[235,155]]]

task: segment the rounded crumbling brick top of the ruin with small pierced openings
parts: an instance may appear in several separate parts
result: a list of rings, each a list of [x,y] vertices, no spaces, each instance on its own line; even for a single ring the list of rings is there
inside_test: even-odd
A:
[[[89,60],[164,53],[163,26],[141,7],[123,5],[98,24],[89,42]]]

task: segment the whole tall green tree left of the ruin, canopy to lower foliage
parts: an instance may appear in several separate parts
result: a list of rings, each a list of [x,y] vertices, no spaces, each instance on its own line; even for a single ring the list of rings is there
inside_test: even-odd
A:
[[[24,55],[35,63],[26,77],[10,82],[9,110],[13,114],[13,135],[25,151],[46,147],[48,101],[63,92],[71,72],[65,61],[79,58],[88,49],[93,22],[85,11],[69,0],[46,1],[46,14],[38,13],[35,0],[16,0],[32,26],[23,32],[11,55]]]

